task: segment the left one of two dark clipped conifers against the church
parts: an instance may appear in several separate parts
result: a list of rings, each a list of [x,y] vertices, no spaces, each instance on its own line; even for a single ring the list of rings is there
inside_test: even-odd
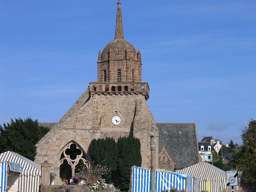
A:
[[[106,183],[111,183],[113,173],[117,170],[118,147],[114,138],[93,139],[89,152],[95,164],[106,165],[109,171],[103,175]]]

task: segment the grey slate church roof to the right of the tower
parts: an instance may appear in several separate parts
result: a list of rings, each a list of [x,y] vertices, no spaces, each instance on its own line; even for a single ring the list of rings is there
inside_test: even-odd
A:
[[[159,152],[165,147],[176,163],[175,169],[184,169],[198,163],[198,144],[194,123],[157,123]]]

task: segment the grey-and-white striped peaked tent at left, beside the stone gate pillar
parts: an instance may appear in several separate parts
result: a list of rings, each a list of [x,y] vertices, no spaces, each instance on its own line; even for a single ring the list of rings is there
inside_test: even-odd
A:
[[[38,192],[41,180],[41,165],[27,159],[26,157],[21,156],[18,153],[14,153],[12,151],[6,151],[0,154],[0,162],[14,162],[21,164],[22,172],[19,174],[19,179],[17,178],[17,174],[9,174],[12,177],[12,183],[9,191],[12,191],[12,188],[16,188],[19,186],[20,192]],[[51,183],[54,184],[54,176],[57,176],[56,172],[51,171]],[[10,179],[9,179],[10,180]],[[8,181],[8,179],[7,179]],[[13,186],[13,187],[12,187]],[[17,186],[17,187],[16,187]],[[17,190],[16,190],[17,191]]]

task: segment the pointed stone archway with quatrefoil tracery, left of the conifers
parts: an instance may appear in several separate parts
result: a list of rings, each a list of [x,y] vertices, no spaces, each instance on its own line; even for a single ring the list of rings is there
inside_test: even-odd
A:
[[[60,151],[60,178],[69,180],[76,172],[79,172],[78,166],[82,164],[89,166],[86,153],[79,144],[72,140]]]

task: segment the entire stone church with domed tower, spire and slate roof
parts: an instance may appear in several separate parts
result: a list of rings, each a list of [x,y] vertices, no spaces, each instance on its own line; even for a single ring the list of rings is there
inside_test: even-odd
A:
[[[36,145],[36,163],[52,163],[60,182],[74,175],[78,164],[89,164],[92,139],[131,136],[140,139],[141,166],[150,168],[152,127],[159,131],[156,153],[158,149],[160,153],[155,159],[159,168],[173,171],[198,163],[196,124],[156,124],[148,108],[149,86],[141,78],[141,53],[124,40],[120,2],[115,39],[99,51],[97,65],[98,81],[89,83],[60,121],[40,123],[51,130]]]

